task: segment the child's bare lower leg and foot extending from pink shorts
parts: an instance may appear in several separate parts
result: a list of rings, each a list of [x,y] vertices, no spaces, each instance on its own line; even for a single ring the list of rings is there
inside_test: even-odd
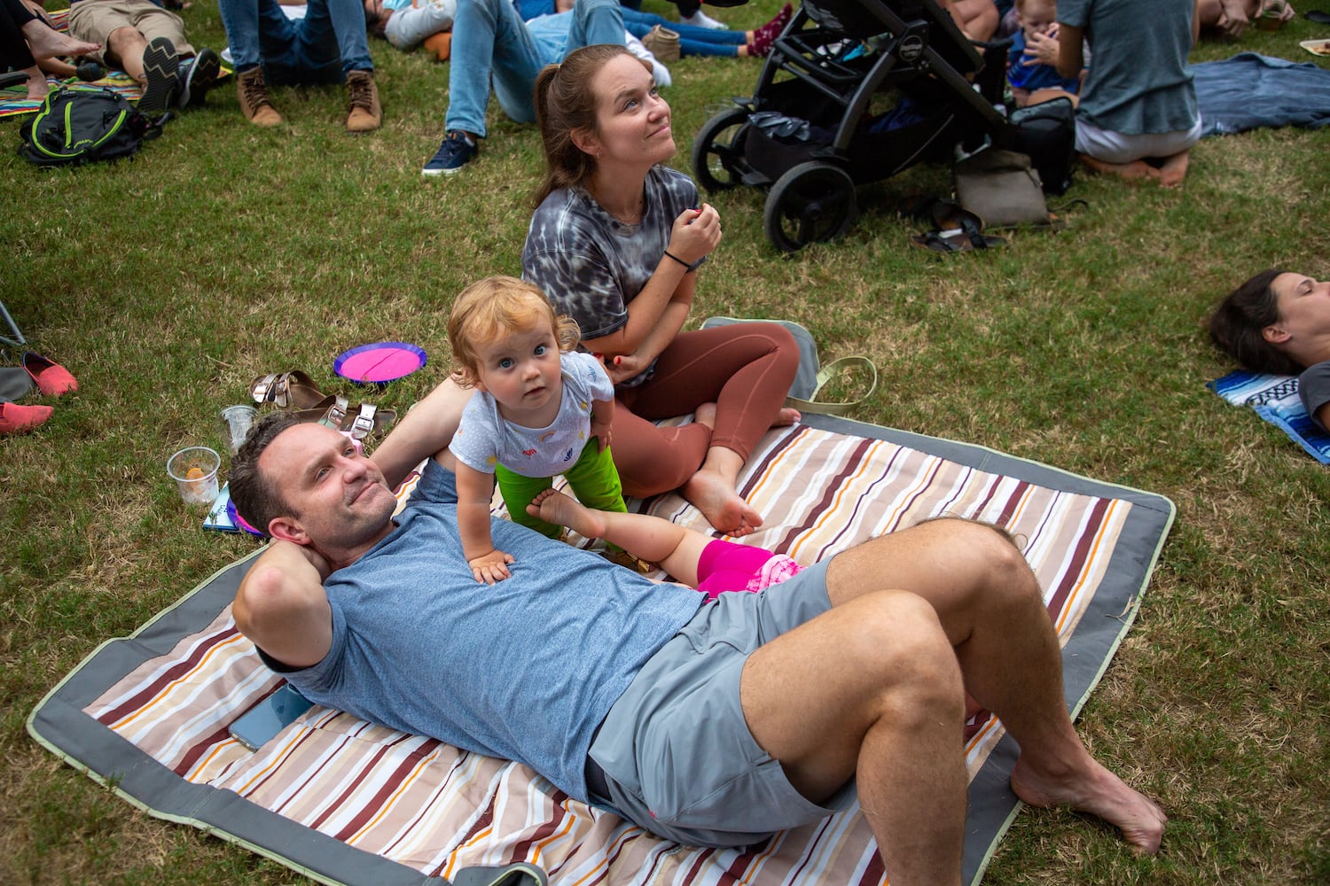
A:
[[[697,562],[712,541],[706,535],[650,514],[591,510],[569,495],[545,490],[527,513],[567,526],[587,538],[604,538],[697,587]]]

